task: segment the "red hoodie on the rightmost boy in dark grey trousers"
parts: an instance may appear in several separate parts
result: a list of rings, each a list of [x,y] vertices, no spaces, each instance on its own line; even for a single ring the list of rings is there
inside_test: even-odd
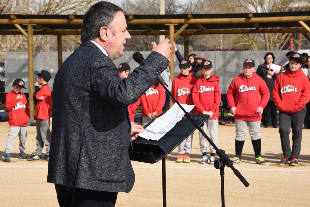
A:
[[[301,110],[310,99],[310,84],[301,69],[281,73],[272,91],[274,104],[284,113],[293,114]]]

